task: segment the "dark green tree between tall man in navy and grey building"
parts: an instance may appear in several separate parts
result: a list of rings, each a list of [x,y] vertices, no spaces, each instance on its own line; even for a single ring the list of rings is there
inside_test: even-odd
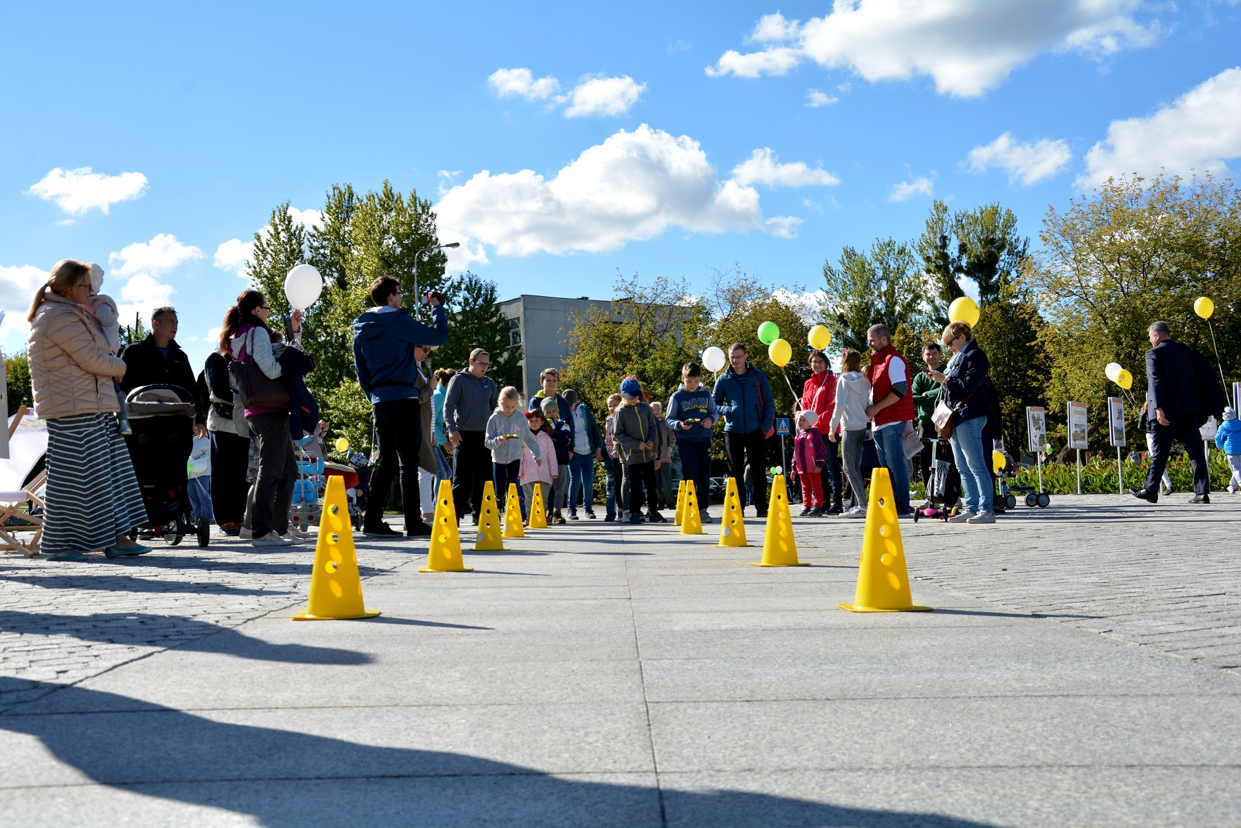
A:
[[[448,344],[439,346],[431,361],[436,367],[462,369],[475,348],[491,358],[488,376],[500,387],[521,387],[521,345],[513,344],[513,324],[500,309],[495,282],[464,273],[446,292]]]

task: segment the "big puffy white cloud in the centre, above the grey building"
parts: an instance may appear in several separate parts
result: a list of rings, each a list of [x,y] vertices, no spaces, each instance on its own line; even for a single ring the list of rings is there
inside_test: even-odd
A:
[[[795,232],[799,218],[763,218],[758,191],[720,181],[699,143],[652,129],[624,129],[547,179],[534,170],[475,174],[449,190],[436,214],[441,237],[459,238],[454,268],[501,256],[601,252],[659,236],[763,230]]]

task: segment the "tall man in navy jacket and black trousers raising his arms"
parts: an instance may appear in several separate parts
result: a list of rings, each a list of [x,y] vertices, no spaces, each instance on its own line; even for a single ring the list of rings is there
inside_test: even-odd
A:
[[[405,530],[410,538],[429,538],[431,526],[422,519],[418,497],[418,453],[422,451],[422,415],[418,411],[418,361],[426,358],[419,346],[448,341],[444,299],[428,293],[434,325],[417,322],[401,307],[401,283],[390,276],[371,286],[375,307],[354,320],[354,361],[357,382],[375,410],[380,461],[371,478],[371,497],[362,519],[369,538],[400,538],[383,523],[383,503],[392,478],[401,469],[401,503]]]

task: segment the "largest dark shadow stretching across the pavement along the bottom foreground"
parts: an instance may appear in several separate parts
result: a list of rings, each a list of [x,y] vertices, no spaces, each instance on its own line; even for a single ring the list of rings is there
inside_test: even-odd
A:
[[[12,682],[0,678],[0,694]],[[133,699],[112,693],[56,684],[43,688],[55,690],[45,696],[48,706],[63,701],[73,710],[134,708]],[[323,715],[330,718],[331,711]],[[743,791],[661,792],[640,785],[563,780],[464,754],[374,747],[222,724],[141,703],[138,713],[129,714],[12,710],[0,715],[0,729],[38,739],[57,760],[101,785],[248,814],[277,828],[668,823],[985,828],[984,823],[930,813],[851,808]],[[46,773],[38,782],[55,785]],[[47,794],[43,788],[27,796]]]

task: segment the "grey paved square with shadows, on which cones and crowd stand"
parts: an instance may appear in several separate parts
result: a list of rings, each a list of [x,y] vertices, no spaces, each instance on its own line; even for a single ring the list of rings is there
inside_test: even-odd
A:
[[[1235,826],[1241,499],[902,523],[932,613],[802,560],[581,521],[357,539],[372,621],[293,623],[311,546],[0,559],[14,826]],[[1131,505],[1133,503],[1133,505]],[[747,521],[761,544],[761,526]],[[709,526],[716,529],[717,526]]]

